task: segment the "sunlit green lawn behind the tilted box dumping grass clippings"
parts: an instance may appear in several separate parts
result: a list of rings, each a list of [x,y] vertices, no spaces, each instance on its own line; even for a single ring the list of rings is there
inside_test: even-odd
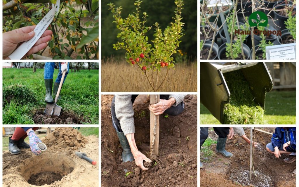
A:
[[[266,124],[296,124],[296,91],[267,93],[264,119]],[[200,124],[220,124],[203,104],[200,104]]]

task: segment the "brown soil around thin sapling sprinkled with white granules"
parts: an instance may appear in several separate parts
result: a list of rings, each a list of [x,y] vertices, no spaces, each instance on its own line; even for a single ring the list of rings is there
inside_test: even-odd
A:
[[[214,131],[210,131],[209,137],[217,140]],[[274,133],[274,127],[257,127],[257,129]],[[246,128],[245,134],[250,137],[250,128]],[[254,169],[257,177],[252,174],[249,180],[249,156],[250,146],[240,136],[236,135],[232,140],[226,143],[226,150],[233,153],[232,158],[225,158],[221,155],[214,154],[210,162],[205,162],[207,158],[201,156],[203,169],[200,170],[200,186],[201,187],[295,187],[296,175],[292,171],[296,167],[296,162],[286,163],[283,161],[287,158],[282,155],[280,159],[275,158],[273,154],[266,151],[266,145],[271,142],[271,135],[256,132],[255,142],[260,146],[254,148]],[[210,147],[213,151],[216,144]]]

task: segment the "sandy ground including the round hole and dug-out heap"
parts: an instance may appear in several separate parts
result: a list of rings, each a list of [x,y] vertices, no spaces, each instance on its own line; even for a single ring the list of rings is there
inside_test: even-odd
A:
[[[17,155],[11,154],[8,150],[2,152],[4,187],[99,186],[98,137],[93,135],[84,137],[71,127],[60,127],[41,140],[47,145],[47,150],[39,156],[35,156],[30,149],[21,149],[21,153]],[[71,140],[74,146],[64,145],[68,140]],[[98,163],[91,165],[86,160],[80,159],[75,155],[74,147],[76,151],[86,153]]]

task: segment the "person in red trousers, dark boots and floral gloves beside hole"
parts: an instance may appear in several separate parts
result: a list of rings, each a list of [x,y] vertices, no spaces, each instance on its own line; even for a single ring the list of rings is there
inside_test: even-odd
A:
[[[39,156],[42,151],[39,150],[37,144],[42,142],[38,136],[34,133],[38,127],[16,127],[13,132],[13,136],[9,137],[8,149],[11,154],[21,153],[20,149],[31,149],[32,153]],[[24,142],[26,137],[29,137],[29,145]]]

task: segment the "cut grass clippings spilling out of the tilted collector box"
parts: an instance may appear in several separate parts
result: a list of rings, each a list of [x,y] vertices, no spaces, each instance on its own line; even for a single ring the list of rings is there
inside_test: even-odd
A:
[[[264,109],[254,102],[251,88],[241,70],[224,74],[231,101],[224,106],[224,124],[265,124]]]

